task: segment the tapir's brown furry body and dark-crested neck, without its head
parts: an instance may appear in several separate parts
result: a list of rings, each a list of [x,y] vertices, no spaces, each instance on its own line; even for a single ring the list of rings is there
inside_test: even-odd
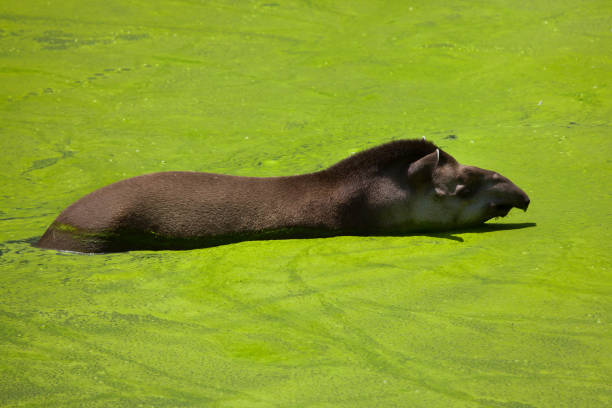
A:
[[[326,170],[289,177],[195,172],[138,176],[76,201],[57,217],[37,245],[116,252],[385,233],[393,228],[382,226],[379,208],[391,208],[398,191],[410,190],[407,169],[436,149],[426,141],[396,141],[355,154]],[[443,152],[441,158],[454,161]]]

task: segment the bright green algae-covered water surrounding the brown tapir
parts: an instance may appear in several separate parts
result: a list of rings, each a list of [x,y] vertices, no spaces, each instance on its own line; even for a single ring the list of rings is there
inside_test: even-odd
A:
[[[609,1],[2,2],[0,405],[610,406],[611,79]],[[290,175],[421,136],[529,211],[450,235],[30,245],[126,177]]]

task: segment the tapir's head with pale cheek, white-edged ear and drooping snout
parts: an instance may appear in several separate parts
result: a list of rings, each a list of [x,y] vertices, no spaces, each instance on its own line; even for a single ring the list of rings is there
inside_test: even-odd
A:
[[[524,211],[529,197],[506,177],[458,163],[436,149],[407,169],[411,223],[432,229],[468,227]]]

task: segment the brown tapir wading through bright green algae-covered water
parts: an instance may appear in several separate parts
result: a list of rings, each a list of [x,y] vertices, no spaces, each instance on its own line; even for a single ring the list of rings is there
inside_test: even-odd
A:
[[[116,252],[441,231],[528,205],[507,178],[461,165],[430,142],[401,140],[298,176],[166,172],[119,181],[64,210],[38,246]]]

